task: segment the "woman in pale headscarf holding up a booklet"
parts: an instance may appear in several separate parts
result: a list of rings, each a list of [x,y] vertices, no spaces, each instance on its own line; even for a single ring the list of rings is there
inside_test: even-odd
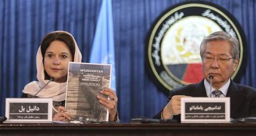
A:
[[[53,107],[56,107],[53,121],[69,121],[71,118],[64,108],[67,88],[67,70],[69,62],[81,62],[82,54],[79,51],[74,37],[64,31],[48,33],[41,41],[36,54],[36,69],[38,81],[25,86],[22,97],[33,97],[41,87],[54,77],[53,82],[36,94],[38,98],[53,98]],[[109,110],[109,121],[119,122],[117,114],[117,96],[111,89],[101,91],[102,94],[112,98],[108,100],[97,96],[103,106]]]

